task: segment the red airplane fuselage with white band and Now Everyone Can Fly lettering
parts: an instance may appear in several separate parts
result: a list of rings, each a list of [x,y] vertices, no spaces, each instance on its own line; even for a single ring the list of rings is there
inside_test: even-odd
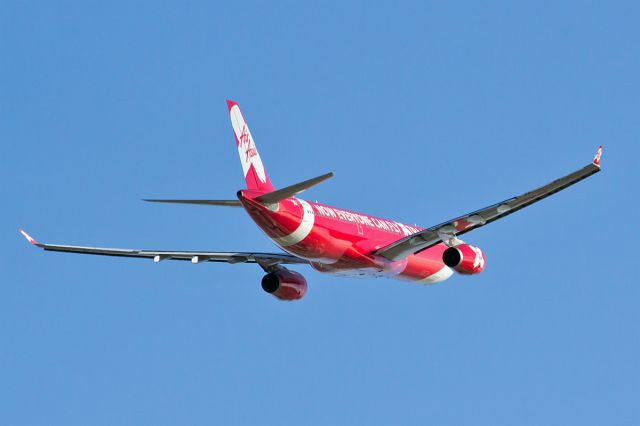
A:
[[[245,210],[275,244],[324,273],[354,277],[390,277],[430,284],[453,271],[442,261],[438,244],[399,261],[373,252],[422,228],[298,198],[263,205],[261,192],[238,192]]]

